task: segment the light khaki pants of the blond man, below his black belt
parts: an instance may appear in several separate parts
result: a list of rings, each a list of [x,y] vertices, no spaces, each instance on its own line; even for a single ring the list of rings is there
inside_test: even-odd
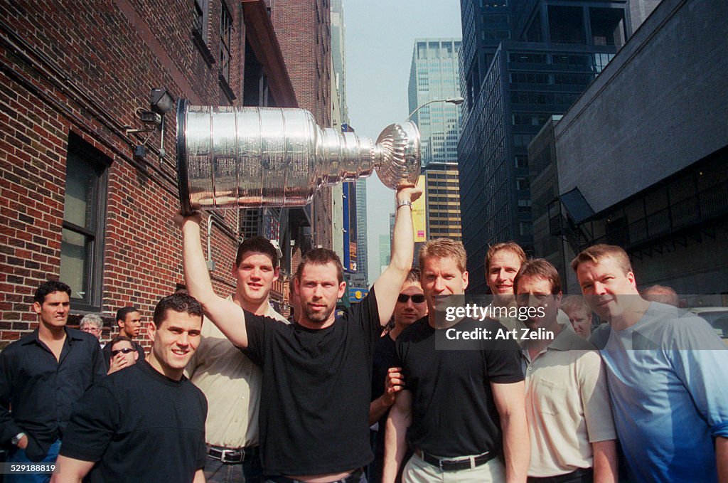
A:
[[[504,483],[505,468],[498,458],[484,465],[460,471],[440,471],[437,466],[425,463],[413,455],[402,475],[403,483]]]

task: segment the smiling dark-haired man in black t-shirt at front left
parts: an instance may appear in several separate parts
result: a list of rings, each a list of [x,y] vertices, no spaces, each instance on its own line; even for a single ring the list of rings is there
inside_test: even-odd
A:
[[[202,306],[187,294],[154,310],[146,361],[114,372],[71,415],[52,483],[205,481],[207,401],[183,375],[200,340]]]

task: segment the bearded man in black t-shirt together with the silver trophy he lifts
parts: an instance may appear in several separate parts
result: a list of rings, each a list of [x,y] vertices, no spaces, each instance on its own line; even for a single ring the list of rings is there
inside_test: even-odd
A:
[[[412,201],[422,190],[416,125],[390,125],[376,143],[316,125],[302,109],[191,107],[178,103],[183,267],[207,318],[262,370],[260,452],[266,481],[359,482],[371,461],[368,409],[373,345],[411,268]],[[200,243],[207,208],[306,205],[320,186],[368,176],[397,189],[389,267],[362,302],[336,318],[344,295],[339,256],[304,254],[290,324],[218,297]]]

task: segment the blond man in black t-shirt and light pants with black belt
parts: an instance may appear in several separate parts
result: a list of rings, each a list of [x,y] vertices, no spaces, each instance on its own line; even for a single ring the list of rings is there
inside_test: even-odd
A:
[[[515,341],[483,342],[478,350],[436,350],[436,323],[448,296],[467,287],[462,243],[439,238],[419,252],[422,290],[429,313],[397,338],[405,389],[389,412],[384,475],[393,482],[407,441],[414,451],[403,482],[526,482],[529,433],[523,373]],[[496,321],[464,318],[458,329],[486,329]],[[472,347],[469,345],[468,348]],[[496,458],[505,455],[505,468]],[[505,470],[505,471],[504,471]]]

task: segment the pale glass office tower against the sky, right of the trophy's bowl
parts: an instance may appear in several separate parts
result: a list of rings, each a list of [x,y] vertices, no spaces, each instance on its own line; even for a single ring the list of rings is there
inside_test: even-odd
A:
[[[460,39],[416,39],[408,87],[410,112],[435,99],[459,97]],[[412,120],[422,137],[422,166],[456,162],[460,107],[436,102],[424,106]]]

